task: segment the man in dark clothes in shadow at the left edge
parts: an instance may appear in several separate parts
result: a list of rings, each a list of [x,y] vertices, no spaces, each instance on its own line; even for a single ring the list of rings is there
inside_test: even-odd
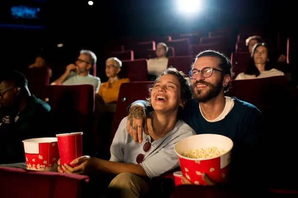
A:
[[[31,95],[27,84],[17,71],[0,76],[0,166],[25,161],[22,140],[50,136],[51,107]],[[2,166],[26,168],[21,164]]]

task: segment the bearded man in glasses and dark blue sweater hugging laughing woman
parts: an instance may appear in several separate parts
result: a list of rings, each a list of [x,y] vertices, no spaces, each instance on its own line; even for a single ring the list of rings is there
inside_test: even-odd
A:
[[[261,137],[261,112],[247,102],[224,97],[232,76],[230,61],[223,54],[213,50],[199,53],[189,71],[193,99],[186,103],[182,119],[197,134],[221,134],[233,140],[229,181],[233,186],[240,184],[244,187],[244,183],[250,183],[252,175],[257,172],[251,159],[258,161],[256,151]],[[143,142],[146,106],[145,101],[138,100],[129,109],[127,131],[139,143]],[[210,185],[214,184],[207,174],[203,174],[203,179]],[[189,183],[185,178],[183,181]]]

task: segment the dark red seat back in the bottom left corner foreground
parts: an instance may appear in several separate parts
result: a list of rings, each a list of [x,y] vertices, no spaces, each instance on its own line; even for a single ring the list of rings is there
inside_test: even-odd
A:
[[[3,167],[0,178],[1,198],[82,198],[89,182],[84,175]]]

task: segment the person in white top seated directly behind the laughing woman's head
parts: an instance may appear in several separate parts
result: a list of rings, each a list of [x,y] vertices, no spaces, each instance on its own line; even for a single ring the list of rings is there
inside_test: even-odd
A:
[[[147,64],[149,80],[155,79],[168,67],[167,53],[167,44],[158,43],[156,47],[156,58],[149,59]]]

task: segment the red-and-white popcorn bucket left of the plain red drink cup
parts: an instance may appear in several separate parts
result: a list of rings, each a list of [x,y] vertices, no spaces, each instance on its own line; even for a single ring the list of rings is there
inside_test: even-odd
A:
[[[33,138],[22,142],[27,170],[55,171],[59,159],[56,137]]]

